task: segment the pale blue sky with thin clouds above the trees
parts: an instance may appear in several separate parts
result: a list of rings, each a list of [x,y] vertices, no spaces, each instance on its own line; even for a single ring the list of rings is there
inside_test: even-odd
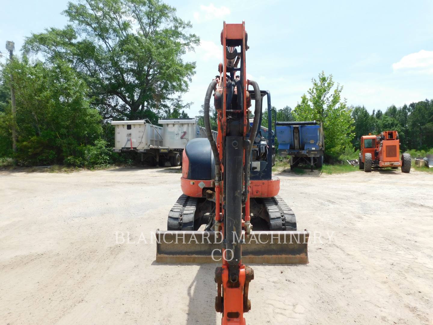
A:
[[[19,50],[25,36],[67,23],[63,0],[3,0],[0,42]],[[201,44],[185,58],[197,72],[184,95],[197,114],[222,59],[223,20],[245,20],[249,78],[294,107],[320,71],[342,84],[349,105],[385,110],[433,98],[433,1],[172,1]],[[236,3],[236,6],[233,6]],[[4,46],[1,45],[4,52]],[[2,59],[4,60],[4,58]]]

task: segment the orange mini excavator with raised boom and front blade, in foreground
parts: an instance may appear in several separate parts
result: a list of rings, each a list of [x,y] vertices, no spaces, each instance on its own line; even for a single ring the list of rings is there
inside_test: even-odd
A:
[[[207,139],[191,140],[185,147],[184,194],[168,214],[167,231],[156,233],[157,262],[221,261],[214,280],[222,325],[246,324],[243,314],[251,309],[248,289],[254,272],[243,263],[308,263],[308,232],[297,231],[293,211],[278,196],[280,180],[271,175],[270,93],[246,78],[247,41],[245,22],[223,23],[223,63],[204,100]],[[260,130],[265,96],[267,144]],[[216,140],[210,129],[211,97],[218,118]],[[252,155],[253,149],[260,155]]]

